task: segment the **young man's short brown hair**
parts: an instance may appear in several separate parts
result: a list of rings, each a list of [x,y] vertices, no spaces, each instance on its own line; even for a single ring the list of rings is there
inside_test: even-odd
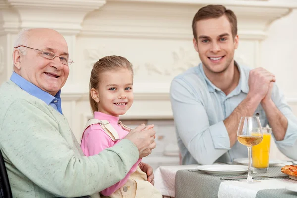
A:
[[[197,41],[196,22],[203,19],[219,18],[225,15],[230,22],[232,36],[237,35],[237,19],[234,12],[223,5],[207,5],[198,10],[192,21],[193,36]]]

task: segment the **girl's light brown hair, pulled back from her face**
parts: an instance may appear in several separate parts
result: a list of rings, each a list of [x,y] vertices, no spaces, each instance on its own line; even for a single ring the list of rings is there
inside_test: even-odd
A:
[[[100,74],[110,70],[128,69],[133,75],[132,64],[121,56],[105,56],[98,60],[91,71],[90,85],[89,85],[89,101],[92,112],[98,111],[97,102],[91,96],[91,89],[97,89],[100,82]]]

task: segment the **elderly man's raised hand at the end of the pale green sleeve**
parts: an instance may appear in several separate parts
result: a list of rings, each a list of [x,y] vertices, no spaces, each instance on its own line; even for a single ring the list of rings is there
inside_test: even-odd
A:
[[[128,139],[135,144],[139,151],[139,158],[143,158],[148,156],[152,149],[156,148],[156,142],[154,140],[155,134],[156,132],[153,128],[146,128],[144,124],[141,124],[130,131],[125,139]]]

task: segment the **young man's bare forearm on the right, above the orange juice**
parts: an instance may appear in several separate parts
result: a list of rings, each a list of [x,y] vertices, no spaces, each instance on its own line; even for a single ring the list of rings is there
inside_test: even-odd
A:
[[[272,128],[275,139],[284,140],[288,127],[287,118],[282,114],[271,99],[267,102],[262,102],[261,104],[266,113],[269,126]]]

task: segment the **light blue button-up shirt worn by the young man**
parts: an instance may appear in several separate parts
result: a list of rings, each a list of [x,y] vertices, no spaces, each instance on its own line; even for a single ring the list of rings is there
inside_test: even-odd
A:
[[[238,69],[239,83],[227,96],[209,81],[202,64],[173,79],[170,99],[183,164],[228,163],[236,158],[248,157],[245,145],[236,142],[230,148],[228,132],[223,122],[246,98],[249,91],[251,69],[244,66],[238,66]],[[288,120],[285,138],[275,141],[276,145],[283,154],[297,160],[297,118],[276,84],[271,98]],[[261,105],[257,107],[254,116],[260,118],[262,126],[268,124]]]

